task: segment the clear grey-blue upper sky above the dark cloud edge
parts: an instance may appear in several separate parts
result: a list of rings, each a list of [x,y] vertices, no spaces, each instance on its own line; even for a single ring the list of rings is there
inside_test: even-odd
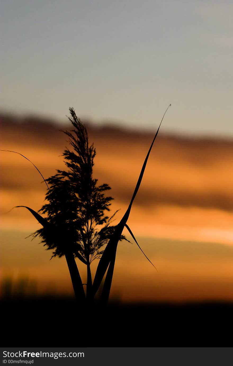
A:
[[[1,111],[233,136],[232,1],[2,0]]]

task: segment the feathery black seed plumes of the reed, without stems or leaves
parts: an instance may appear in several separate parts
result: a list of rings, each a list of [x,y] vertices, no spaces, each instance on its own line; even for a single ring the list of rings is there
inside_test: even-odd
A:
[[[40,236],[47,250],[52,250],[52,257],[61,257],[69,251],[90,264],[101,257],[103,246],[113,234],[115,226],[111,223],[116,212],[110,217],[106,215],[113,199],[105,195],[110,187],[98,186],[98,180],[92,177],[95,148],[89,145],[87,130],[74,109],[69,110],[74,129],[63,132],[73,150],[66,148],[63,153],[67,169],[57,170],[46,180],[47,203],[39,212],[46,214],[48,225],[33,236]]]

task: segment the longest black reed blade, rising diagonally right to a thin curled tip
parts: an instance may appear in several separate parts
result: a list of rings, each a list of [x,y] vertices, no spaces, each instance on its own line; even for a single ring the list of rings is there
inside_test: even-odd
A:
[[[167,112],[168,108],[170,107],[171,104],[168,105],[165,113]],[[112,234],[112,237],[109,239],[109,242],[102,254],[102,257],[100,258],[99,260],[99,264],[97,266],[97,270],[96,270],[96,273],[95,273],[95,278],[94,278],[94,281],[93,281],[93,291],[94,291],[94,294],[97,292],[98,288],[99,288],[99,285],[101,284],[101,281],[103,279],[103,276],[105,275],[105,272],[110,264],[110,261],[115,261],[115,251],[116,251],[116,248],[117,248],[117,244],[120,240],[120,236],[122,234],[122,231],[123,231],[123,228],[128,220],[128,217],[130,215],[130,210],[131,210],[131,207],[132,207],[132,203],[134,202],[134,199],[136,197],[136,194],[138,193],[138,190],[139,190],[139,187],[140,187],[140,184],[142,182],[142,177],[143,177],[143,174],[144,174],[144,171],[145,171],[145,168],[146,168],[146,163],[148,161],[148,158],[149,158],[149,155],[150,155],[150,151],[153,147],[153,144],[154,144],[154,141],[159,133],[159,129],[160,129],[160,126],[161,126],[161,123],[163,122],[163,119],[164,119],[164,116],[165,116],[165,113],[163,115],[163,118],[161,119],[161,122],[159,124],[159,128],[157,129],[156,131],[156,134],[153,138],[153,141],[152,141],[152,144],[150,145],[150,148],[148,150],[148,153],[146,155],[146,158],[145,158],[145,161],[142,165],[142,169],[141,169],[141,172],[140,172],[140,175],[139,175],[139,178],[138,178],[138,182],[136,184],[136,187],[135,187],[135,190],[134,190],[134,193],[132,195],[132,198],[131,198],[131,201],[130,201],[130,204],[128,206],[128,209],[126,210],[124,216],[122,217],[120,223],[116,226],[116,229],[114,231],[114,233]],[[114,268],[114,263],[112,263],[112,266]],[[109,283],[111,283],[111,281],[108,281]],[[110,292],[110,289],[109,291]]]

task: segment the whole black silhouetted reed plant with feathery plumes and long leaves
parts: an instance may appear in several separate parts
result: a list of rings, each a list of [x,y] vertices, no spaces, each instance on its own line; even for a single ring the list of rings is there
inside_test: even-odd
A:
[[[128,209],[120,222],[112,225],[116,212],[112,216],[108,216],[113,199],[107,195],[110,187],[108,184],[98,185],[97,179],[93,178],[95,148],[93,144],[89,145],[87,130],[76,116],[74,109],[69,110],[69,120],[73,125],[73,130],[71,132],[63,131],[68,136],[72,147],[72,150],[66,149],[63,153],[66,170],[57,170],[57,173],[48,179],[44,179],[39,172],[47,185],[47,203],[42,206],[39,213],[27,206],[17,207],[27,208],[42,225],[42,228],[32,235],[39,236],[47,250],[52,250],[52,257],[65,256],[74,294],[79,304],[92,306],[95,294],[103,281],[100,302],[102,305],[106,305],[112,284],[117,244],[119,240],[125,239],[122,235],[124,227],[128,229],[136,242],[127,225],[127,220],[163,118],[143,163]],[[45,217],[41,216],[42,214]],[[138,245],[137,242],[136,244]],[[105,249],[103,249],[104,247]],[[75,259],[87,266],[86,292]],[[90,264],[94,259],[99,259],[99,263],[92,280]]]

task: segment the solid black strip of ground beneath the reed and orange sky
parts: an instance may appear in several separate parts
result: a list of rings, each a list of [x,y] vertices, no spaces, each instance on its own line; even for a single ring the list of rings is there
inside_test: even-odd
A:
[[[4,347],[230,347],[233,303],[110,303],[81,311],[65,297],[1,300]]]

